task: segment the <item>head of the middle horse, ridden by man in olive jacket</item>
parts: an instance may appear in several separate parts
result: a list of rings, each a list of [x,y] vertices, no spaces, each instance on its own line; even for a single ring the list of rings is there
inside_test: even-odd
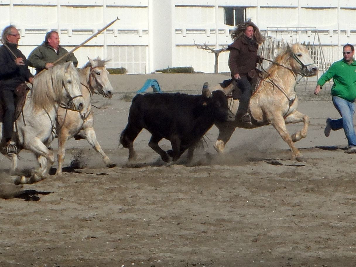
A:
[[[109,72],[105,68],[105,64],[109,62],[109,60],[102,60],[100,57],[96,59],[90,59],[88,57],[88,59],[89,62],[85,67],[90,67],[89,87],[94,89],[98,94],[106,98],[111,98],[114,89],[109,81]]]

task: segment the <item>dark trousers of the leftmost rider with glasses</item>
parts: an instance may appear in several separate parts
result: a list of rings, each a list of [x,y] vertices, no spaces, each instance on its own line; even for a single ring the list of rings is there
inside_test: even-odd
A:
[[[15,92],[13,90],[1,88],[0,100],[4,106],[4,117],[2,122],[3,140],[6,142],[11,140],[14,132],[15,121]]]

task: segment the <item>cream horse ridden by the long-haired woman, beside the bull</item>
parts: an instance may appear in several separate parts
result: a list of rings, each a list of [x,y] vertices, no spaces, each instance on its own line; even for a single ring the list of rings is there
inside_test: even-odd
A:
[[[244,123],[240,120],[216,124],[219,128],[219,136],[214,148],[219,153],[224,151],[227,141],[230,140],[235,127],[251,129],[263,125],[271,124],[279,135],[290,147],[292,160],[305,161],[304,157],[294,145],[294,142],[307,136],[309,117],[300,113],[298,108],[298,97],[294,87],[297,83],[298,75],[314,76],[318,72],[313,59],[309,56],[308,50],[299,44],[287,46],[280,53],[271,66],[267,69],[268,77],[263,79],[257,92],[252,95],[250,101],[251,123]],[[229,94],[233,85],[222,89]],[[236,114],[239,100],[229,99],[230,109]],[[289,134],[286,124],[303,122],[302,130]]]

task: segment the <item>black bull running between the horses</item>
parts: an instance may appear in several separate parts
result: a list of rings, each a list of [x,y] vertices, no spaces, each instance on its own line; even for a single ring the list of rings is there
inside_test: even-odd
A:
[[[233,121],[227,97],[223,91],[211,94],[208,83],[201,95],[180,93],[155,93],[136,95],[132,99],[129,122],[120,136],[123,147],[129,148],[129,160],[136,159],[133,141],[142,129],[152,136],[148,143],[163,161],[169,157],[176,161],[187,148],[188,161],[193,158],[194,148],[215,122]],[[165,138],[171,141],[172,150],[163,151],[158,142]]]

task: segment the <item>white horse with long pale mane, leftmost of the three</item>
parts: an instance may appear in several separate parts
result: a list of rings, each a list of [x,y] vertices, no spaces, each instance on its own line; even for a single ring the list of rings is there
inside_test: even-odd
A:
[[[54,163],[54,156],[47,145],[54,138],[53,127],[59,106],[77,110],[83,117],[88,116],[78,72],[72,62],[59,64],[36,75],[32,90],[27,93],[23,112],[15,124],[17,144],[20,149],[33,152],[40,167],[30,178],[22,176],[15,179],[16,184],[34,183],[46,178],[49,165]],[[14,172],[17,155],[7,157],[12,158],[11,171]]]

